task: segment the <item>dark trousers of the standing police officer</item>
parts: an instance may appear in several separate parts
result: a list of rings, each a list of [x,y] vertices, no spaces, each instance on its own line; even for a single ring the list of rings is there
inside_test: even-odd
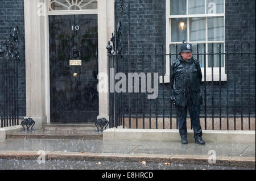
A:
[[[194,131],[194,138],[202,136],[202,128],[200,125],[199,114],[200,106],[186,106],[185,108],[177,108],[177,116],[179,120],[179,132],[181,138],[187,138],[187,110]]]

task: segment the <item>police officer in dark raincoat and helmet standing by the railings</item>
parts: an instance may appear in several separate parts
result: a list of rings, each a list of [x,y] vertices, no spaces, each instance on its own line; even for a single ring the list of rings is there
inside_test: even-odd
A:
[[[200,92],[202,73],[199,61],[192,57],[191,44],[184,42],[180,46],[180,57],[171,66],[171,99],[176,106],[179,120],[181,144],[187,141],[187,110],[191,118],[195,143],[204,145],[199,120],[200,105],[203,98]]]

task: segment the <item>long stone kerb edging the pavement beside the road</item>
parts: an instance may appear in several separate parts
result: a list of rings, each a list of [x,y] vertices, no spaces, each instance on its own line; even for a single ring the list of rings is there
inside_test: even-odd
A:
[[[0,159],[38,159],[45,156],[46,160],[72,161],[126,161],[126,162],[154,162],[188,165],[212,165],[247,167],[255,169],[255,157],[216,157],[216,163],[209,163],[209,155],[167,155],[167,154],[129,154],[129,153],[86,153],[46,151],[44,155],[39,151],[0,151]],[[210,160],[212,161],[212,160]]]

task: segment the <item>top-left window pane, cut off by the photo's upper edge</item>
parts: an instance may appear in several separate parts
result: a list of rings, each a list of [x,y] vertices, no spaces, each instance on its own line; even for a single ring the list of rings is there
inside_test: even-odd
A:
[[[170,0],[170,15],[187,14],[187,0]]]

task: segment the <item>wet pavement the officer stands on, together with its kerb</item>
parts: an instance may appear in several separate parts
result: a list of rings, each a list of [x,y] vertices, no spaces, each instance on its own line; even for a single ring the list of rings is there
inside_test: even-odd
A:
[[[135,161],[255,168],[255,143],[179,141],[1,140],[0,159]],[[216,163],[214,156],[216,155]],[[210,161],[210,163],[209,163]]]

